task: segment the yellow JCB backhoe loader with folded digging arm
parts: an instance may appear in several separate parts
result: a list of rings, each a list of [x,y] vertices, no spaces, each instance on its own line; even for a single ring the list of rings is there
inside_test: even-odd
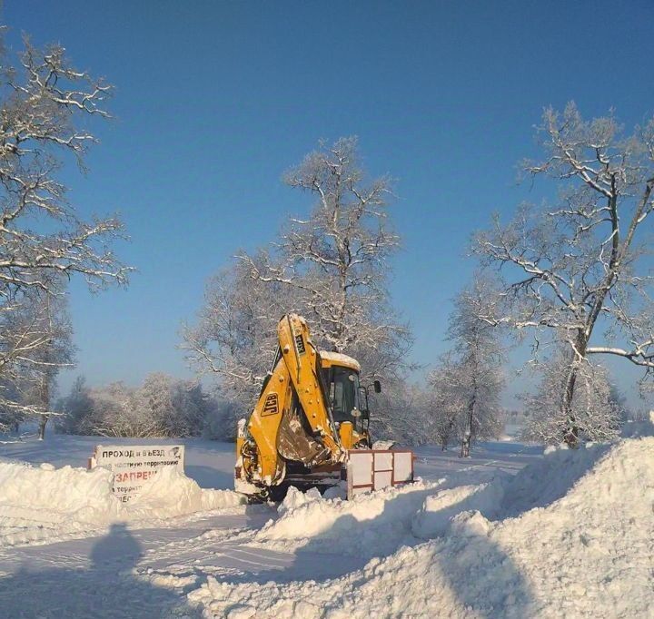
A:
[[[380,480],[377,486],[410,481],[412,459],[410,474],[406,465],[398,464],[393,471],[396,452],[372,451],[368,388],[359,384],[359,362],[340,353],[319,352],[306,320],[297,314],[283,316],[277,334],[279,347],[272,369],[250,419],[239,422],[236,491],[259,500],[279,500],[289,486],[323,490],[347,480],[349,471],[351,477],[370,481],[352,486],[351,478],[349,494],[374,489],[375,478]],[[373,387],[381,391],[379,381]],[[356,476],[352,475],[352,453],[370,454],[370,464],[361,458],[357,461],[360,472]],[[375,456],[381,462],[382,453],[391,453],[386,458],[391,468],[377,475]],[[370,469],[370,480],[361,472],[364,469]],[[383,481],[381,473],[389,471],[390,477]]]

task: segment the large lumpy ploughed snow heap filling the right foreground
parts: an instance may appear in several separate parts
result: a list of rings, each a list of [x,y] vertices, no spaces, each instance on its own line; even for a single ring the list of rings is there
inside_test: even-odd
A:
[[[281,619],[649,616],[653,463],[654,437],[642,437],[555,450],[512,481],[501,477],[458,492],[425,485],[361,496],[350,506],[311,501],[265,526],[259,541],[313,536],[314,542],[331,539],[332,552],[342,552],[368,535],[372,550],[382,554],[393,523],[406,530],[414,515],[414,530],[446,535],[423,543],[414,537],[412,547],[373,558],[342,578],[230,584],[210,576],[189,598],[205,616]],[[453,515],[457,506],[463,511]],[[439,508],[446,526],[443,520],[434,525]]]

